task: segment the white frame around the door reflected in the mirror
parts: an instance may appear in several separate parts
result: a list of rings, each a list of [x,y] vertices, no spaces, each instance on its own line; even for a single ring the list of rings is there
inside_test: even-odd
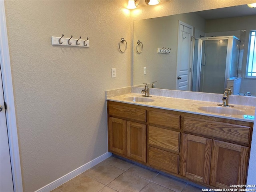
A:
[[[183,25],[183,26],[186,26],[187,28],[191,28],[192,30],[192,34],[191,36],[194,37],[194,26],[191,26],[189,24],[186,24],[180,20],[178,20],[178,45],[177,45],[177,58],[178,58],[178,50],[179,50],[179,35],[180,35],[180,25]],[[194,39],[194,38],[193,38]],[[188,91],[191,91],[192,90],[192,64],[193,64],[193,54],[194,54],[194,41],[191,40],[191,43],[190,43],[190,63],[189,63],[189,67],[190,67],[190,72],[188,72]],[[178,80],[177,80],[177,77],[178,77],[178,59],[176,61],[176,90],[178,90]]]

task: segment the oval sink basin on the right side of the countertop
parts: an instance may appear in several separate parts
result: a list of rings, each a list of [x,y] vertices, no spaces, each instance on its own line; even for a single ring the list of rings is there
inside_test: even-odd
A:
[[[238,110],[230,107],[218,107],[218,106],[202,106],[198,107],[198,110],[210,112],[210,113],[219,113],[219,114],[228,114],[228,115],[245,115],[246,111]]]

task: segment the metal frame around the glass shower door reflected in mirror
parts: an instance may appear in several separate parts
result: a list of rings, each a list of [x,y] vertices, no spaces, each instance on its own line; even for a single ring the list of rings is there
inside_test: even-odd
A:
[[[228,40],[227,46],[227,56],[226,56],[226,68],[225,68],[225,80],[224,80],[224,87],[223,92],[227,86],[227,80],[230,75],[230,66],[231,66],[231,58],[232,58],[232,42],[235,36],[219,36],[219,37],[204,37],[204,38],[195,38],[198,39],[198,60],[197,60],[197,76],[196,76],[196,92],[200,92],[200,81],[201,81],[201,68],[202,68],[202,45],[204,41],[211,41],[211,40]],[[236,38],[239,40],[238,38]],[[239,40],[240,41],[240,40]]]

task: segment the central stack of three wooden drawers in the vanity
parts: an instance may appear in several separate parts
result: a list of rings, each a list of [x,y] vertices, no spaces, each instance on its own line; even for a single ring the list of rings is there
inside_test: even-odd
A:
[[[180,115],[167,110],[148,110],[148,164],[178,174]]]

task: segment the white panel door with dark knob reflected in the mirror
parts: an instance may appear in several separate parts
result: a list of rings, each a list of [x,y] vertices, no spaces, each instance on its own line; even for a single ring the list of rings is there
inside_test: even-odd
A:
[[[193,27],[179,21],[176,90],[190,91]]]

